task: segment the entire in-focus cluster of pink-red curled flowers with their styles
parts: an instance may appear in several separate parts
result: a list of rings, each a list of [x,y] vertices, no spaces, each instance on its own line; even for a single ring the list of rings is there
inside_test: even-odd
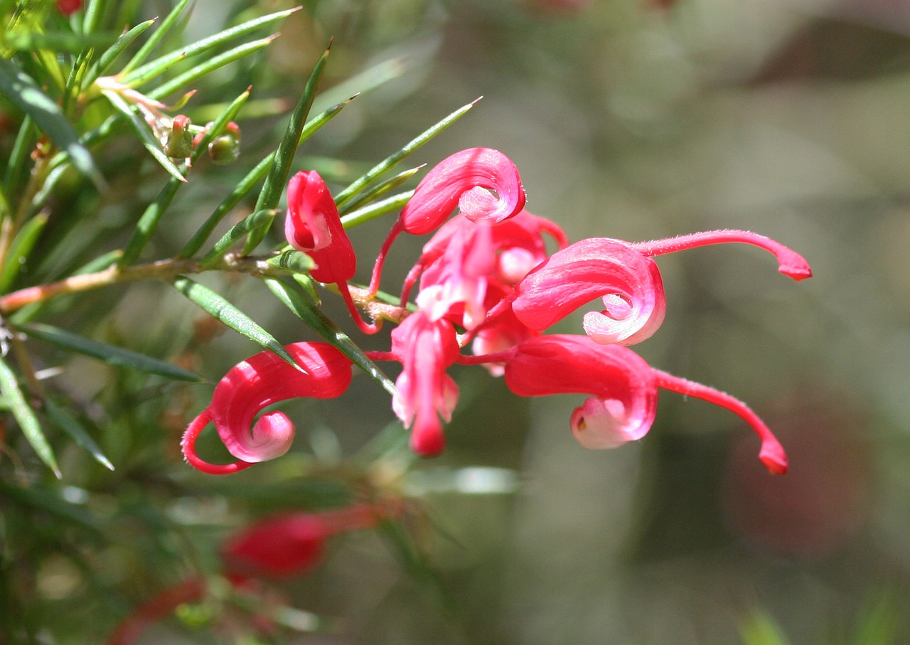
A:
[[[379,252],[361,305],[379,293],[393,241],[402,233],[433,233],[401,287],[402,316],[389,351],[368,352],[373,360],[401,364],[391,404],[410,428],[411,448],[421,456],[440,453],[443,423],[458,400],[449,369],[482,365],[520,396],[588,395],[570,420],[572,434],[586,448],[642,438],[652,426],[658,391],[666,389],[739,415],[761,439],[759,456],[767,469],[786,472],[784,448],[742,401],[652,368],[628,346],[651,337],[663,321],[666,298],[654,257],[739,242],[773,254],[779,271],[794,280],[812,275],[804,258],[739,230],[638,243],[592,237],[570,244],[560,227],[524,206],[521,177],[508,157],[490,148],[463,150],[423,178]],[[312,277],[337,285],[359,328],[376,332],[382,321],[364,321],[351,295],[356,256],[315,171],[290,180],[285,231],[290,245],[315,261]],[[415,287],[416,310],[409,313],[405,307]],[[545,333],[598,298],[603,308],[584,315],[583,335]],[[258,412],[284,398],[337,397],[348,387],[350,363],[338,349],[302,342],[288,352],[302,371],[264,352],[227,373],[211,405],[187,428],[183,448],[190,464],[222,474],[278,457],[288,449],[293,428],[282,413],[272,412],[250,430]],[[210,421],[238,461],[215,465],[197,456],[196,438]]]

